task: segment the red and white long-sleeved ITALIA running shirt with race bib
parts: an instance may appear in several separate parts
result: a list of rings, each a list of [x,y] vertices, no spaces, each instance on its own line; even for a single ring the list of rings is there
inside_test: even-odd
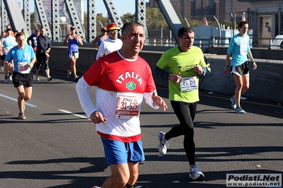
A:
[[[96,108],[89,96],[91,86],[96,86]],[[118,51],[96,60],[79,79],[76,89],[88,117],[96,110],[106,117],[107,122],[96,124],[96,130],[107,139],[140,140],[143,98],[148,105],[158,108],[151,98],[156,88],[148,63],[141,57],[125,59]]]

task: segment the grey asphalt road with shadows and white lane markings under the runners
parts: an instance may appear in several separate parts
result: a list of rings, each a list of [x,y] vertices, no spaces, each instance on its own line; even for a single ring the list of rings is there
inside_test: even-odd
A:
[[[18,94],[0,71],[1,188],[91,188],[111,175],[95,124],[79,105],[76,83],[66,74],[51,75],[54,79],[47,83],[40,73],[26,103],[27,119],[19,120]],[[167,90],[158,88],[158,93],[169,109],[142,106],[145,161],[140,163],[139,185],[226,187],[229,173],[282,174],[283,105],[247,99],[241,103],[247,113],[236,114],[229,96],[201,93],[194,122],[196,162],[206,177],[192,182],[182,136],[170,140],[167,155],[157,151],[157,132],[178,124]]]

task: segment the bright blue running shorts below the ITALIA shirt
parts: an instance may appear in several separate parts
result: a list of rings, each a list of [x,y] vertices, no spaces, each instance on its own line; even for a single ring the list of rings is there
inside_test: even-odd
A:
[[[145,160],[143,141],[123,143],[101,137],[107,165],[138,163]]]

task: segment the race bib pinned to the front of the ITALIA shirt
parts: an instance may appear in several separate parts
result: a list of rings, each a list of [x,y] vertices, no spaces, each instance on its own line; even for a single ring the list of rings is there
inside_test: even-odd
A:
[[[118,119],[138,117],[142,100],[142,95],[118,95],[115,117]]]

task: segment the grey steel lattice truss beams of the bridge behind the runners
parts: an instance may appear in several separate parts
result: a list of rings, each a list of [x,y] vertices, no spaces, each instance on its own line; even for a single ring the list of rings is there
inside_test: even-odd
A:
[[[23,0],[23,14],[21,9],[14,8],[17,0],[0,0],[1,1],[1,19],[0,25],[1,30],[6,29],[6,25],[11,24],[12,29],[16,28],[26,28],[28,34],[33,33],[30,30],[30,1]],[[38,11],[38,16],[40,20],[40,25],[45,28],[46,35],[51,37],[52,41],[60,42],[62,36],[60,36],[60,15],[59,15],[59,0],[50,0],[52,4],[52,23],[48,23],[48,18],[45,13],[45,8],[43,6],[42,0],[34,0],[35,8]],[[115,5],[112,0],[103,0],[104,5],[108,11],[109,18],[111,22],[116,23],[118,28],[123,27],[123,22],[121,17],[118,16]],[[177,41],[177,30],[182,27],[182,24],[177,17],[177,13],[174,11],[170,0],[156,0],[160,11],[162,11],[163,16],[167,20],[172,34]],[[84,42],[91,42],[96,37],[96,0],[87,1],[87,33],[84,30],[84,25],[82,25],[77,14],[76,7],[74,6],[73,0],[64,0],[67,13],[69,14],[71,24],[77,30],[77,33],[81,35]],[[10,20],[10,22],[9,22]],[[21,21],[23,20],[23,21]],[[146,4],[145,0],[135,0],[135,20],[145,25],[145,34],[147,36],[146,28]],[[51,28],[51,29],[50,29]],[[87,35],[86,35],[87,34]],[[86,37],[87,36],[87,37]]]

